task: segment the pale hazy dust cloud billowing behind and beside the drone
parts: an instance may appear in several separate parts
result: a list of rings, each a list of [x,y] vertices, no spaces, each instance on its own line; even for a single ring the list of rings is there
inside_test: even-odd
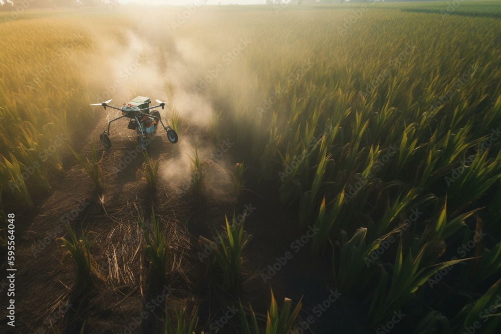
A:
[[[95,97],[89,103],[113,99],[110,104],[121,106],[136,96],[149,97],[152,104],[158,99],[168,102],[165,110],[158,108],[166,125],[171,124],[175,107],[182,118],[182,130],[178,130],[179,141],[175,144],[178,154],[162,155],[159,173],[177,194],[181,194],[192,182],[188,155],[195,158],[196,147],[200,159],[213,160],[218,150],[203,139],[214,117],[211,98],[205,91],[197,93],[195,87],[206,74],[207,64],[213,61],[215,66],[222,51],[206,50],[177,36],[168,20],[160,22],[137,21],[105,32],[89,28],[98,52],[89,55],[91,66],[84,73],[93,88],[91,96]],[[108,109],[107,119],[111,120],[117,113]],[[190,130],[189,135],[184,134],[186,128]],[[165,133],[158,128],[157,135],[165,136]],[[220,159],[217,167],[223,165],[223,161]],[[224,168],[217,170],[221,174],[218,178],[230,179]]]

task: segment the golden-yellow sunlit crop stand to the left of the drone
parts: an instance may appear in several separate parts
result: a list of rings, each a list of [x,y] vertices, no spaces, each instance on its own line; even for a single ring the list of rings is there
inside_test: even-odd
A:
[[[6,36],[0,42],[3,48],[13,40],[23,46],[11,50],[9,56],[0,55],[0,71],[6,75],[0,79],[0,186],[13,191],[12,195],[9,191],[3,196],[8,196],[9,204],[16,207],[31,208],[33,195],[50,189],[63,169],[64,143],[71,141],[70,134],[82,135],[86,131],[82,124],[91,119],[90,110],[82,108],[89,98],[85,79],[72,62],[66,61],[71,58],[83,65],[83,51],[88,50],[91,39],[65,28],[71,22],[64,18],[45,28],[30,24],[27,31],[39,32],[33,40],[31,34],[23,35],[30,42],[20,40],[17,34],[2,32]],[[54,33],[54,29],[58,32]],[[14,59],[26,54],[28,45],[31,57],[23,64],[17,63]],[[69,57],[63,60],[62,55]],[[36,73],[40,64],[56,59],[58,71],[46,71],[44,80],[29,74]]]

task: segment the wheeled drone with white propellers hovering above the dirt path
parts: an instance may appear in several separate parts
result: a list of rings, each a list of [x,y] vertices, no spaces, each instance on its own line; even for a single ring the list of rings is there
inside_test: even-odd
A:
[[[110,103],[112,100],[108,100],[103,103],[94,103],[91,106],[103,106],[106,110],[106,107],[110,107],[112,109],[120,110],[122,112],[122,116],[119,116],[110,122],[108,122],[108,130],[104,130],[104,132],[99,136],[101,140],[101,144],[103,144],[104,148],[111,148],[111,140],[110,140],[110,125],[111,123],[119,120],[121,118],[127,117],[129,118],[129,124],[127,125],[128,129],[136,130],[139,136],[137,137],[137,143],[141,145],[142,149],[145,150],[148,144],[146,140],[146,136],[148,134],[154,133],[158,122],[162,124],[163,129],[167,132],[167,139],[172,144],[177,143],[177,133],[169,126],[165,126],[160,118],[160,113],[157,110],[153,110],[150,114],[150,110],[154,108],[161,107],[162,110],[165,107],[165,104],[168,102],[162,102],[160,100],[155,100],[158,105],[150,107],[151,101],[149,98],[138,96],[134,100],[129,103],[124,103],[122,108],[111,106]]]

